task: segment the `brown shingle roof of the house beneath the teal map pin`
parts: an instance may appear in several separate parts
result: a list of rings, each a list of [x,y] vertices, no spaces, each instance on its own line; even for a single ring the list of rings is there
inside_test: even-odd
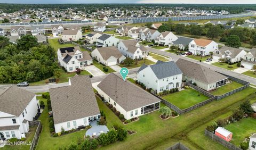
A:
[[[160,102],[160,99],[130,81],[124,81],[114,73],[103,79],[98,87],[125,111]]]

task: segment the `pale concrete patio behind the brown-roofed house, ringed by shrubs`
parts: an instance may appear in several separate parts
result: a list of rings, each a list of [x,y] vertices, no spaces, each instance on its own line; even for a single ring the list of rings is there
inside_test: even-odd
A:
[[[88,129],[86,132],[85,132],[85,136],[90,136],[92,137],[93,133],[96,133],[96,136],[98,136],[98,134],[100,134],[102,131],[104,133],[107,133],[109,130],[107,128],[107,126],[101,126],[101,125],[98,125],[98,122],[97,121],[92,121],[91,122],[91,126],[92,128]]]

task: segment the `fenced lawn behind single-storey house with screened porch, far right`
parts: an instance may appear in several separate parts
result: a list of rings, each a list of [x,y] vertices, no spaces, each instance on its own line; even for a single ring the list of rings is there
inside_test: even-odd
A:
[[[242,87],[243,85],[242,84],[239,84],[238,82],[235,82],[235,81],[232,81],[231,83],[225,85],[225,86],[222,86],[222,87],[219,87],[215,90],[212,90],[210,91],[211,94],[213,95],[222,95],[222,94],[225,94],[233,89],[237,89],[239,87]]]

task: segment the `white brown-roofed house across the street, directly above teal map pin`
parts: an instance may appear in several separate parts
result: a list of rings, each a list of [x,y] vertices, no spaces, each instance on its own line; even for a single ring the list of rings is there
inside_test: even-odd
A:
[[[137,40],[122,40],[117,46],[119,52],[131,59],[145,59],[149,52],[143,45],[140,45]]]

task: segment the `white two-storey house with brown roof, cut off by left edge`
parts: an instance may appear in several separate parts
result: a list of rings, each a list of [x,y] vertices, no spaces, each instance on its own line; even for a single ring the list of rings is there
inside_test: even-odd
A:
[[[0,140],[25,137],[40,109],[36,95],[15,86],[0,89]]]

